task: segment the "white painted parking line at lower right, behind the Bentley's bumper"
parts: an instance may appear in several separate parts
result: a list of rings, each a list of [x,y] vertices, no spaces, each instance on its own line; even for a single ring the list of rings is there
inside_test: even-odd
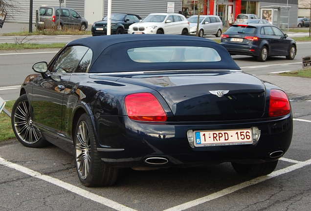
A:
[[[303,167],[309,166],[309,165],[311,165],[311,159],[307,160],[307,161],[304,161],[304,162],[300,162],[300,163],[294,164],[294,165],[289,166],[289,167],[287,167],[285,169],[280,169],[280,170],[277,170],[277,171],[273,171],[272,173],[270,173],[267,176],[257,177],[255,179],[246,181],[244,183],[241,183],[241,184],[238,184],[238,185],[235,185],[235,186],[231,186],[229,188],[226,188],[226,189],[220,190],[218,192],[212,193],[210,195],[204,196],[202,198],[199,198],[199,199],[196,199],[196,200],[193,200],[193,201],[189,201],[189,202],[186,202],[184,204],[181,204],[181,205],[169,208],[169,209],[167,209],[165,211],[183,211],[183,210],[195,207],[197,205],[203,204],[205,202],[209,202],[209,201],[212,201],[214,199],[220,198],[222,196],[228,195],[228,194],[233,193],[235,191],[244,189],[246,187],[249,187],[249,186],[252,186],[252,185],[264,182],[264,181],[266,181],[268,179],[271,179],[273,177],[280,176],[282,174],[289,173],[289,172],[291,172],[293,170],[300,169],[300,168],[303,168]]]

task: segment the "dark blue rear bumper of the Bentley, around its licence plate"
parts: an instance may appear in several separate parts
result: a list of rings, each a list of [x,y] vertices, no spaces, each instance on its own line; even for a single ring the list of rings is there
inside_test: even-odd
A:
[[[92,116],[102,160],[116,167],[200,166],[222,162],[273,161],[269,154],[288,150],[292,137],[291,113],[274,120],[225,123],[142,123],[128,117]],[[258,127],[261,137],[254,145],[192,148],[187,131]],[[146,158],[165,158],[168,163],[151,165]]]

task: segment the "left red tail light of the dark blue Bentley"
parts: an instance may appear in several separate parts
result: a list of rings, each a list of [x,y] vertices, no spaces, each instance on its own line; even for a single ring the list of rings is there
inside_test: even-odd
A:
[[[128,116],[133,120],[165,122],[166,113],[151,93],[135,93],[125,97]]]

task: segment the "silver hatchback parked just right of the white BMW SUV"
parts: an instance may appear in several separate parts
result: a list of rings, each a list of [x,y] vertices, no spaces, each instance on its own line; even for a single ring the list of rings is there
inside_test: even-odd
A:
[[[190,23],[190,35],[197,34],[198,16],[194,15],[188,18]],[[219,16],[214,15],[200,15],[199,22],[199,37],[203,35],[215,35],[216,37],[222,36],[222,21]]]

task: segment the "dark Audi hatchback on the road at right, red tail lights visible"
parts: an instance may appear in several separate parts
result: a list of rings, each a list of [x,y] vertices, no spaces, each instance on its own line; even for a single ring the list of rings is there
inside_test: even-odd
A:
[[[281,29],[267,24],[233,24],[222,34],[221,45],[231,55],[249,55],[259,62],[266,62],[270,56],[296,56],[296,42]]]

